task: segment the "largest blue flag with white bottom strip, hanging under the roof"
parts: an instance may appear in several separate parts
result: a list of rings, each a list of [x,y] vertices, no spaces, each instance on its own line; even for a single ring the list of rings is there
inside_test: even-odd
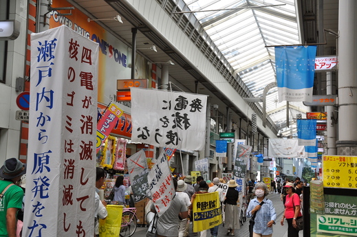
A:
[[[312,102],[316,46],[275,47],[279,101]]]

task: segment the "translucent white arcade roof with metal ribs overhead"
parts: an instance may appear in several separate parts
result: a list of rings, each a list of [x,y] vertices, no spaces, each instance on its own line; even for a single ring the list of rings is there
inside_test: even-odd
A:
[[[300,44],[294,0],[184,0],[199,23],[255,97],[275,78],[274,47]],[[263,7],[266,5],[274,5]],[[226,9],[226,10],[222,10]],[[286,102],[279,102],[277,87],[266,98],[267,115],[282,135],[296,135],[296,114],[305,117],[302,102],[290,102],[290,128],[286,128]]]

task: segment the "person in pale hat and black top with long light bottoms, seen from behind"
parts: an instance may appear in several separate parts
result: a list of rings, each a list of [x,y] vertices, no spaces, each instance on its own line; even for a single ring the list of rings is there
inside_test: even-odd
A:
[[[225,221],[224,225],[228,229],[227,236],[235,236],[235,229],[239,229],[239,207],[237,202],[239,199],[239,192],[235,190],[237,182],[234,179],[228,181],[228,191],[226,199],[224,200],[225,207]]]

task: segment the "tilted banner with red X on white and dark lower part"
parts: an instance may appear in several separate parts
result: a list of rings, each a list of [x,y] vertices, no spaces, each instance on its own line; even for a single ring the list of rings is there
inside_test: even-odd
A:
[[[147,167],[147,157],[145,156],[144,150],[139,150],[129,157],[127,164],[134,201],[138,202],[146,197],[150,197],[151,194],[147,179],[149,168]]]

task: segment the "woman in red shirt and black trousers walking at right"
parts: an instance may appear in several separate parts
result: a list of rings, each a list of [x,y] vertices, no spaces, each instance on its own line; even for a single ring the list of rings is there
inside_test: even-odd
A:
[[[296,229],[296,220],[302,218],[300,212],[300,198],[295,193],[294,183],[286,183],[285,210],[281,218],[281,225],[284,225],[284,218],[288,221],[288,237],[299,237],[299,230]]]

